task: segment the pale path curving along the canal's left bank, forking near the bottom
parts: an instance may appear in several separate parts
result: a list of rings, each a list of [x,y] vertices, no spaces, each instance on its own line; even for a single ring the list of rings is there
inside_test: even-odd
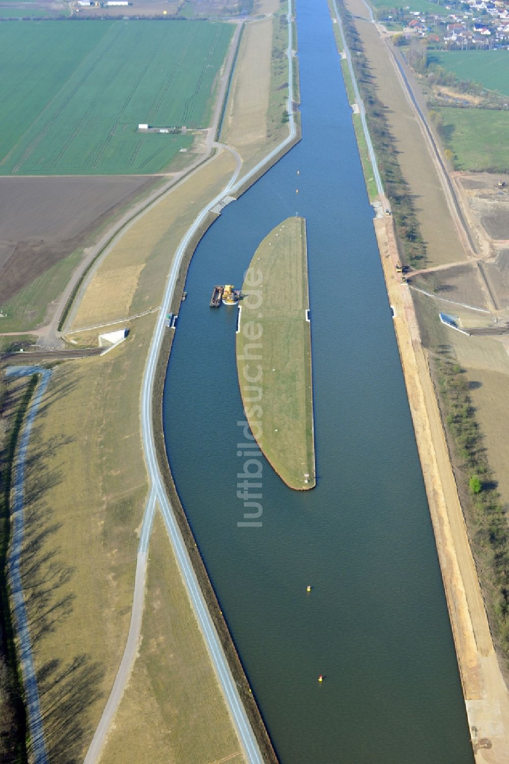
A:
[[[130,676],[134,659],[137,654],[137,649],[140,639],[141,619],[143,616],[143,593],[145,590],[145,579],[147,571],[147,549],[150,539],[150,533],[153,525],[153,516],[156,510],[156,505],[159,505],[159,509],[162,513],[166,529],[169,533],[169,538],[172,543],[173,551],[175,552],[176,559],[182,574],[182,579],[185,582],[185,587],[188,591],[188,596],[192,602],[195,616],[198,620],[201,628],[201,633],[204,636],[205,643],[208,647],[208,652],[211,657],[214,671],[216,672],[217,679],[221,685],[221,689],[224,694],[225,701],[227,702],[228,711],[234,721],[237,735],[240,743],[243,747],[243,752],[246,757],[246,761],[249,764],[263,764],[263,756],[260,753],[258,743],[256,742],[256,736],[251,727],[250,721],[247,718],[246,711],[243,707],[243,703],[240,700],[240,695],[237,690],[234,677],[230,672],[226,656],[221,646],[217,631],[215,630],[214,623],[211,620],[211,615],[208,612],[208,607],[205,604],[203,594],[201,594],[201,588],[198,584],[195,571],[192,567],[192,563],[189,559],[185,543],[182,539],[182,535],[179,531],[179,527],[176,523],[175,515],[169,499],[166,495],[166,490],[159,473],[159,467],[156,458],[156,448],[153,440],[152,429],[152,393],[153,393],[153,379],[156,370],[157,358],[159,356],[159,349],[163,340],[163,335],[166,330],[165,317],[169,312],[169,307],[172,302],[172,296],[175,291],[177,277],[179,275],[180,265],[185,255],[185,251],[188,248],[189,242],[195,236],[199,230],[202,222],[204,222],[208,212],[216,206],[224,196],[230,196],[236,193],[241,186],[243,186],[251,178],[263,170],[264,167],[270,165],[272,161],[277,157],[280,152],[292,144],[295,140],[297,131],[295,127],[295,115],[293,113],[293,71],[292,71],[292,0],[288,2],[287,13],[288,24],[288,48],[286,56],[288,59],[288,105],[287,111],[289,115],[288,137],[285,138],[273,151],[271,151],[256,167],[253,167],[249,173],[246,173],[242,177],[240,176],[240,170],[242,163],[240,157],[234,149],[222,146],[237,157],[237,167],[234,174],[231,176],[229,183],[211,202],[205,206],[199,215],[195,218],[191,227],[188,228],[184,238],[179,244],[179,248],[176,251],[176,255],[173,258],[172,267],[169,272],[169,277],[166,282],[166,289],[157,316],[156,328],[153,333],[152,342],[150,344],[150,351],[147,358],[147,364],[143,374],[143,385],[141,391],[141,429],[143,439],[143,451],[145,453],[145,460],[147,462],[147,470],[150,479],[150,494],[147,500],[145,513],[143,515],[143,523],[141,529],[140,545],[137,553],[137,568],[134,587],[134,599],[131,612],[129,634],[127,636],[127,643],[124,649],[124,656],[121,660],[121,665],[118,669],[118,674],[115,678],[113,688],[111,690],[110,697],[105,706],[105,710],[101,716],[98,727],[95,730],[92,743],[85,756],[85,764],[92,764],[96,762],[101,754],[101,749],[105,744],[108,730],[113,720],[114,714],[117,711],[118,704],[121,701],[122,694],[124,693],[125,685]],[[221,144],[216,144],[221,147]]]

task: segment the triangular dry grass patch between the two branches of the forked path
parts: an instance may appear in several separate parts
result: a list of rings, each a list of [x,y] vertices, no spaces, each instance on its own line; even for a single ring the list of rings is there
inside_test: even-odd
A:
[[[245,761],[159,513],[150,539],[140,653],[104,760]]]

